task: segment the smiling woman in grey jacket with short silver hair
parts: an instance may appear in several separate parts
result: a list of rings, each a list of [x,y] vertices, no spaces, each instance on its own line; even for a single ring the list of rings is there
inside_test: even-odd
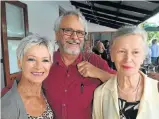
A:
[[[2,97],[2,119],[53,119],[53,112],[44,96],[42,82],[52,65],[53,48],[39,35],[23,38],[17,48],[19,81]]]

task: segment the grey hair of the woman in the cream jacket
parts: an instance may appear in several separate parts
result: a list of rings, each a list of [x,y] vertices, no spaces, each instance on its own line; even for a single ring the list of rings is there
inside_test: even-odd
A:
[[[136,34],[139,34],[142,37],[145,46],[144,50],[145,55],[147,55],[148,54],[147,32],[138,26],[132,25],[132,26],[124,26],[119,28],[113,35],[113,38],[110,40],[110,47],[113,45],[114,41],[117,40],[117,38],[121,36],[136,35]]]

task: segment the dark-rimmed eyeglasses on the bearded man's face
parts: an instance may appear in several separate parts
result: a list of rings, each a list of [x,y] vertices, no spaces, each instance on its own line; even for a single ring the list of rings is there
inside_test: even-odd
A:
[[[80,31],[80,30],[75,31],[71,28],[60,28],[60,29],[63,31],[65,35],[68,36],[71,36],[74,32],[76,32],[78,38],[84,38],[84,36],[87,34],[85,31]]]

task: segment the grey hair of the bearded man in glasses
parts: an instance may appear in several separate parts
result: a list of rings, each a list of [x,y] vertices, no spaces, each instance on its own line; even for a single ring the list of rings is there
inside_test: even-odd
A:
[[[54,24],[54,30],[58,31],[60,29],[61,20],[63,19],[63,17],[69,16],[69,15],[75,15],[75,16],[77,16],[79,18],[79,21],[84,26],[84,31],[88,34],[87,21],[86,21],[85,17],[81,14],[81,12],[78,11],[78,10],[64,12],[64,14],[62,14],[60,17],[58,17],[56,19],[55,24]]]

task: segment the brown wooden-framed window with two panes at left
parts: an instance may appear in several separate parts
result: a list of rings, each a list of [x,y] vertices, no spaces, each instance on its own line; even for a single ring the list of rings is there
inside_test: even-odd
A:
[[[20,75],[17,66],[16,48],[28,34],[27,5],[19,1],[1,2],[2,63],[5,86]]]

